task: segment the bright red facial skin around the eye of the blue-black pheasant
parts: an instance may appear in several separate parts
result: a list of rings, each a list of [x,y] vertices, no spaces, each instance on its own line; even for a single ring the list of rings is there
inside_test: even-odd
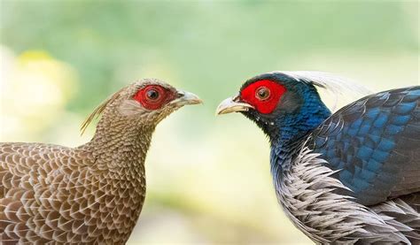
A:
[[[261,88],[268,88],[269,91],[269,96],[262,100],[256,96],[257,91]],[[285,92],[286,88],[275,81],[258,80],[244,88],[240,93],[240,98],[243,102],[253,105],[256,111],[269,114],[276,110],[277,104]]]

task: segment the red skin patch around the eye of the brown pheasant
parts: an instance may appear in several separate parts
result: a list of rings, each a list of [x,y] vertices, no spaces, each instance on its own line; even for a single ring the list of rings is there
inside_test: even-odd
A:
[[[153,99],[151,97],[151,94],[154,92],[158,93],[159,96]],[[136,95],[133,96],[133,98],[137,102],[141,103],[143,107],[147,110],[158,110],[164,104],[173,100],[175,96],[167,88],[163,88],[159,85],[149,85],[145,88],[138,90]]]

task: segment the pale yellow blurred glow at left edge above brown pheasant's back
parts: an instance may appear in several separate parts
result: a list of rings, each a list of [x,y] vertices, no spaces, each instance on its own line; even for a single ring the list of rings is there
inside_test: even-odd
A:
[[[2,90],[6,106],[1,107],[2,137],[43,134],[54,126],[58,114],[74,94],[74,70],[44,51],[26,51],[13,57],[2,50]],[[17,98],[17,95],[18,98]],[[48,95],[48,96],[45,96]],[[19,103],[14,103],[19,99]],[[38,119],[37,124],[27,124]],[[16,140],[25,141],[27,139]]]

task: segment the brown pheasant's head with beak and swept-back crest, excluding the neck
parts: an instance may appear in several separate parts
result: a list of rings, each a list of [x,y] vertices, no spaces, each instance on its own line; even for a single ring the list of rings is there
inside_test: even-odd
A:
[[[154,128],[169,114],[185,104],[201,103],[198,96],[177,90],[157,79],[143,79],[110,96],[93,111],[82,125],[82,131],[100,114],[100,127],[124,123],[126,126]],[[138,128],[137,128],[138,129]]]

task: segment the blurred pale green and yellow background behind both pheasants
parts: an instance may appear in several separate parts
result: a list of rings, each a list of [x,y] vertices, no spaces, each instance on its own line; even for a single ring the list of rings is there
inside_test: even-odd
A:
[[[320,70],[418,84],[418,2],[1,1],[0,142],[76,146],[117,89],[167,80],[205,101],[157,128],[130,244],[310,243],[276,203],[268,142],[214,109],[247,78]]]

